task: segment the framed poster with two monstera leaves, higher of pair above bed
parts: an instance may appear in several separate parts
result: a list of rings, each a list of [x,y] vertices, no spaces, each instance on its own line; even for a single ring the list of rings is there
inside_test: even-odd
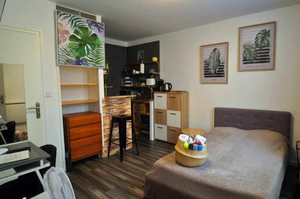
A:
[[[239,28],[238,71],[274,70],[276,22]]]

